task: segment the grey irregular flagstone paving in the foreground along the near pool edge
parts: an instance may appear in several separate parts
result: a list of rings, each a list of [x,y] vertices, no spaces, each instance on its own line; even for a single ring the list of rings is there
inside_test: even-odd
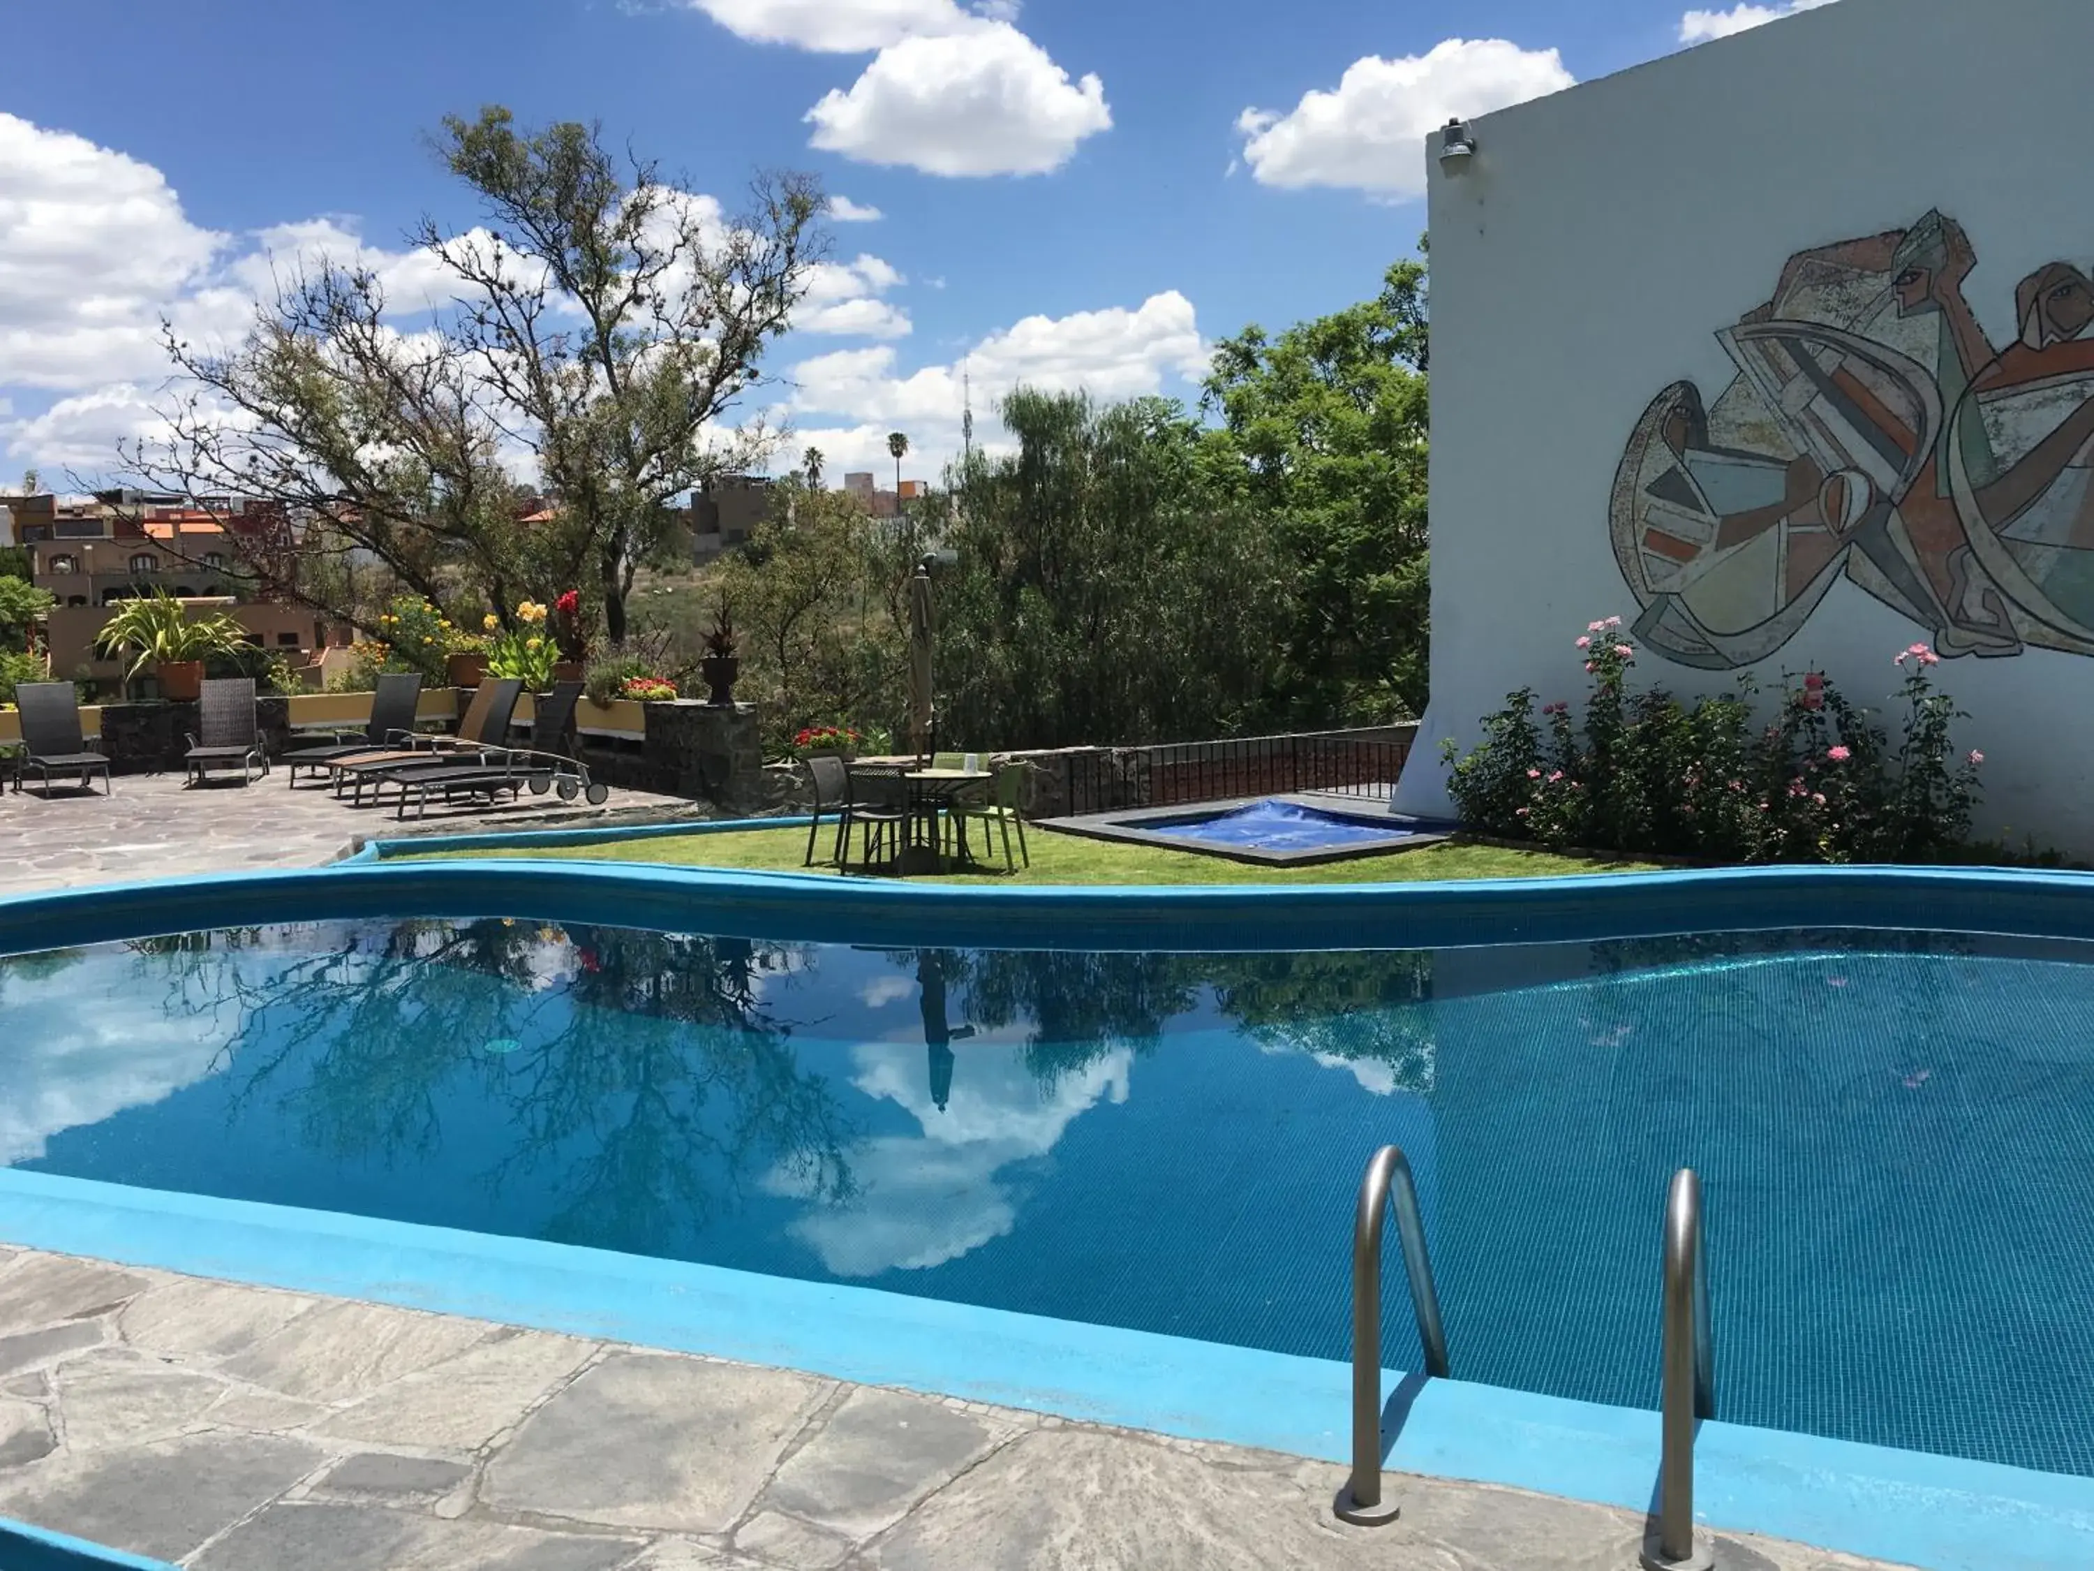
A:
[[[195,1571],[1625,1571],[1642,1519],[0,1246],[0,1517]],[[1872,1563],[1721,1535],[1723,1571]]]

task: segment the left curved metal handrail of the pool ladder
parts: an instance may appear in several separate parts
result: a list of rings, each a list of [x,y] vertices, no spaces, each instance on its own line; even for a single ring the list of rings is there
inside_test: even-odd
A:
[[[1359,1215],[1353,1219],[1353,1477],[1332,1506],[1338,1521],[1361,1527],[1384,1527],[1399,1514],[1393,1502],[1382,1500],[1382,1219],[1390,1204],[1397,1209],[1426,1374],[1447,1376],[1447,1332],[1441,1328],[1418,1186],[1403,1148],[1382,1146],[1359,1181]]]

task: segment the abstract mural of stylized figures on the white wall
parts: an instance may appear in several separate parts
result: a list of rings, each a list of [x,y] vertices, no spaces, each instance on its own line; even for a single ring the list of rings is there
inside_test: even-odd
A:
[[[1996,346],[1975,264],[1941,214],[1792,256],[1721,394],[1656,396],[1610,507],[1644,647],[1748,666],[1845,576],[1943,656],[2094,654],[2094,283],[2031,272]]]

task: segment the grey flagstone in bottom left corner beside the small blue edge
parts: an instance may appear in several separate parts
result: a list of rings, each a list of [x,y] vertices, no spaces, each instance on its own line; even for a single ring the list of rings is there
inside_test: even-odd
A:
[[[0,1475],[0,1517],[180,1561],[289,1489],[318,1460],[320,1452],[302,1441],[260,1435],[188,1435],[86,1456],[59,1452]]]

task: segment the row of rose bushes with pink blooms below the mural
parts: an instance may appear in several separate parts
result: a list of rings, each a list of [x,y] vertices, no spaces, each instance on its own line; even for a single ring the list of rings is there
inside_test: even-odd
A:
[[[1466,756],[1447,744],[1447,790],[1464,823],[1550,846],[1711,861],[1939,861],[1968,840],[1979,752],[1956,754],[1966,718],[1935,691],[1939,656],[1897,656],[1903,685],[1893,746],[1868,710],[1824,674],[1782,681],[1776,714],[1755,725],[1759,693],[1681,704],[1665,689],[1627,691],[1635,645],[1621,618],[1577,641],[1591,677],[1583,723],[1568,702],[1533,689],[1485,716]]]

